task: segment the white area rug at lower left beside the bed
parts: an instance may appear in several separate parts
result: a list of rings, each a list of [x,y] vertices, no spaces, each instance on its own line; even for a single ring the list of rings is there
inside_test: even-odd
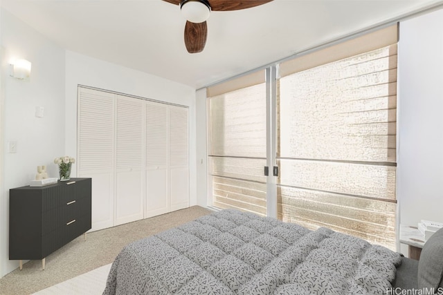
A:
[[[43,289],[42,291],[34,293],[34,295],[102,294],[105,290],[109,269],[111,269],[111,263],[91,270],[91,272],[87,272],[86,274],[81,274],[70,280],[65,280],[62,283]]]

